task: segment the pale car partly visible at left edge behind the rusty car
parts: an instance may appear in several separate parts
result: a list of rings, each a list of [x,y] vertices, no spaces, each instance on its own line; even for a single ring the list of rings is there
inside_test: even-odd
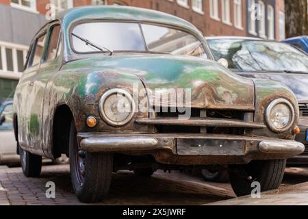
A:
[[[13,100],[0,102],[0,164],[16,164],[16,140],[13,130]]]

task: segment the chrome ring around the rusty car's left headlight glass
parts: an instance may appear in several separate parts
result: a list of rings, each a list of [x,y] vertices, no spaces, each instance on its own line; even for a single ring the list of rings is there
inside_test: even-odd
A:
[[[115,121],[115,120],[111,120],[105,110],[104,110],[104,106],[105,106],[105,101],[112,95],[118,95],[121,94],[123,95],[123,97],[125,97],[127,100],[130,101],[131,103],[131,112],[129,113],[129,116],[127,116],[127,118],[125,118],[125,120],[122,121]],[[120,89],[120,88],[114,88],[114,89],[110,89],[107,90],[103,96],[101,96],[101,99],[99,100],[99,114],[101,115],[101,118],[105,121],[105,123],[107,123],[108,125],[111,125],[113,127],[121,127],[121,126],[125,126],[127,125],[132,119],[133,116],[135,115],[135,109],[136,109],[136,103],[133,100],[133,97],[131,96],[131,94],[129,92],[127,92],[124,89]]]

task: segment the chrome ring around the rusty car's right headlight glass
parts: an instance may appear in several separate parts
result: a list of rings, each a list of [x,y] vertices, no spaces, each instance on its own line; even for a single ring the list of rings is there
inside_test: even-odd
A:
[[[287,105],[287,107],[289,107],[290,109],[290,113],[291,113],[291,118],[289,120],[289,123],[283,127],[283,129],[279,129],[277,127],[275,127],[273,124],[272,124],[272,121],[270,119],[270,114],[273,110],[273,108],[278,105],[278,104],[285,104]],[[287,130],[289,130],[293,123],[294,123],[294,120],[295,120],[295,110],[294,110],[294,107],[292,105],[292,103],[290,103],[290,101],[287,101],[286,99],[275,99],[274,101],[272,101],[268,107],[266,108],[266,124],[268,125],[268,128],[276,133],[282,133],[282,132],[285,132]]]

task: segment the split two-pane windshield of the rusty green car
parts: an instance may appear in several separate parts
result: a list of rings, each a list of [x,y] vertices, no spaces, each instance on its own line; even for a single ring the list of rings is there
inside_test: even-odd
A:
[[[72,31],[73,49],[77,53],[99,53],[97,47],[114,52],[166,53],[207,57],[198,38],[185,31],[139,23],[81,23]],[[86,43],[79,36],[88,40]],[[108,51],[106,50],[106,53]]]

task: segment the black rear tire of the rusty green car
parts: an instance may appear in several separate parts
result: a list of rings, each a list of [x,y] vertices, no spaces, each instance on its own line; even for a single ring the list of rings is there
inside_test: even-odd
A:
[[[40,177],[42,170],[42,156],[34,155],[18,146],[21,155],[21,168],[25,177]]]

